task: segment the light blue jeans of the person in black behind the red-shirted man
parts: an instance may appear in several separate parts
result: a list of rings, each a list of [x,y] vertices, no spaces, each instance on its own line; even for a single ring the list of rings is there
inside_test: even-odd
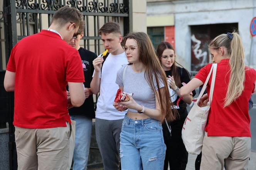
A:
[[[93,120],[85,116],[70,116],[70,118],[76,121],[73,170],[86,170],[91,143]]]

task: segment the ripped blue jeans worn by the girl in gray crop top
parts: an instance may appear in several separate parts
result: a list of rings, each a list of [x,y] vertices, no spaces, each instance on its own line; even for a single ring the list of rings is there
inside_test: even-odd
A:
[[[160,121],[125,115],[120,134],[122,170],[163,170],[166,146]]]

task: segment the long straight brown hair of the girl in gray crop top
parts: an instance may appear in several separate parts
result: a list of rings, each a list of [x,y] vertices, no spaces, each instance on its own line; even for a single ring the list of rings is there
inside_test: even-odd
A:
[[[157,95],[157,90],[155,89],[154,78],[156,79],[160,99],[159,103],[162,112],[162,122],[164,118],[166,118],[168,121],[175,120],[175,118],[177,117],[177,113],[173,112],[173,110],[171,109],[172,103],[170,102],[170,94],[168,90],[165,72],[161,66],[160,61],[158,60],[157,55],[155,54],[155,50],[150,38],[146,33],[133,32],[125,36],[123,44],[125,44],[126,40],[128,39],[133,39],[138,44],[139,61],[145,66],[144,76],[155,95]],[[159,82],[164,83],[165,87],[163,87],[163,93],[161,93],[161,91],[159,90]]]

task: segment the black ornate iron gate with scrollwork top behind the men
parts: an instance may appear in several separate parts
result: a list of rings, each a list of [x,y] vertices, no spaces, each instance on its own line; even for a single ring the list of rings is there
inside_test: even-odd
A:
[[[62,6],[68,5],[77,8],[84,15],[85,27],[82,46],[96,54],[104,49],[98,35],[98,30],[104,23],[109,21],[120,23],[123,28],[122,33],[125,35],[129,32],[132,22],[129,17],[129,9],[132,8],[130,0],[3,0],[1,5],[3,5],[3,11],[0,11],[0,70],[3,71],[12,47],[22,38],[47,29],[52,15]],[[1,24],[4,25],[4,39],[1,37]],[[5,44],[5,52],[2,51],[2,43]],[[4,55],[5,58],[3,58]],[[13,93],[8,93],[7,99],[9,157],[12,170],[17,169],[14,127],[12,125]]]

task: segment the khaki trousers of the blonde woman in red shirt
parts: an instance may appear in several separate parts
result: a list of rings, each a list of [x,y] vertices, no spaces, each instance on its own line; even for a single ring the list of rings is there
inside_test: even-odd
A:
[[[247,170],[251,137],[204,135],[200,170]]]

